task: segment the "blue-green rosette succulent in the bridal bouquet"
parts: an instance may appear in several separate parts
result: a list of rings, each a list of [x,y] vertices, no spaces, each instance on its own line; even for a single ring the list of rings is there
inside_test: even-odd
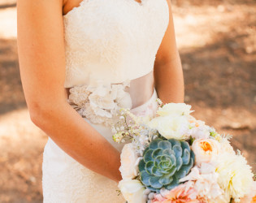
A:
[[[193,167],[194,153],[186,141],[175,139],[153,140],[139,162],[141,182],[146,188],[158,192],[179,185],[179,179]]]

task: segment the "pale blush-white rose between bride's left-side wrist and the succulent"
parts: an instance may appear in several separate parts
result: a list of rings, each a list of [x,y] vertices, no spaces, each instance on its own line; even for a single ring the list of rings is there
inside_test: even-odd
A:
[[[121,153],[121,166],[119,167],[123,179],[133,179],[137,176],[137,158],[132,143],[124,145]]]

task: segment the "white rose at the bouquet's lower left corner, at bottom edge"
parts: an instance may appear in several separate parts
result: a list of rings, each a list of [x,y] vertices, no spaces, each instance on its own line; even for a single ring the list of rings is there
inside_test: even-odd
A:
[[[118,186],[128,203],[145,203],[145,187],[139,180],[122,179]]]

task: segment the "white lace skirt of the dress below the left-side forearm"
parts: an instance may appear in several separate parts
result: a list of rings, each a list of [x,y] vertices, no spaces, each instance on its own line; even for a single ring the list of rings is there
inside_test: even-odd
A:
[[[124,203],[117,184],[82,166],[49,138],[42,163],[44,203]]]

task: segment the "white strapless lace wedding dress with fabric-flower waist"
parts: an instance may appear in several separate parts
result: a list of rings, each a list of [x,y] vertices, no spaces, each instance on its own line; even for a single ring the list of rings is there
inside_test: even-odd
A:
[[[123,145],[112,140],[111,115],[117,106],[131,108],[125,89],[154,69],[169,22],[167,0],[83,0],[63,15],[63,22],[64,88],[71,88],[67,101],[121,151]],[[154,89],[150,100],[132,113],[154,116],[156,98]],[[125,202],[114,181],[76,162],[50,137],[43,153],[42,187],[45,203]]]

